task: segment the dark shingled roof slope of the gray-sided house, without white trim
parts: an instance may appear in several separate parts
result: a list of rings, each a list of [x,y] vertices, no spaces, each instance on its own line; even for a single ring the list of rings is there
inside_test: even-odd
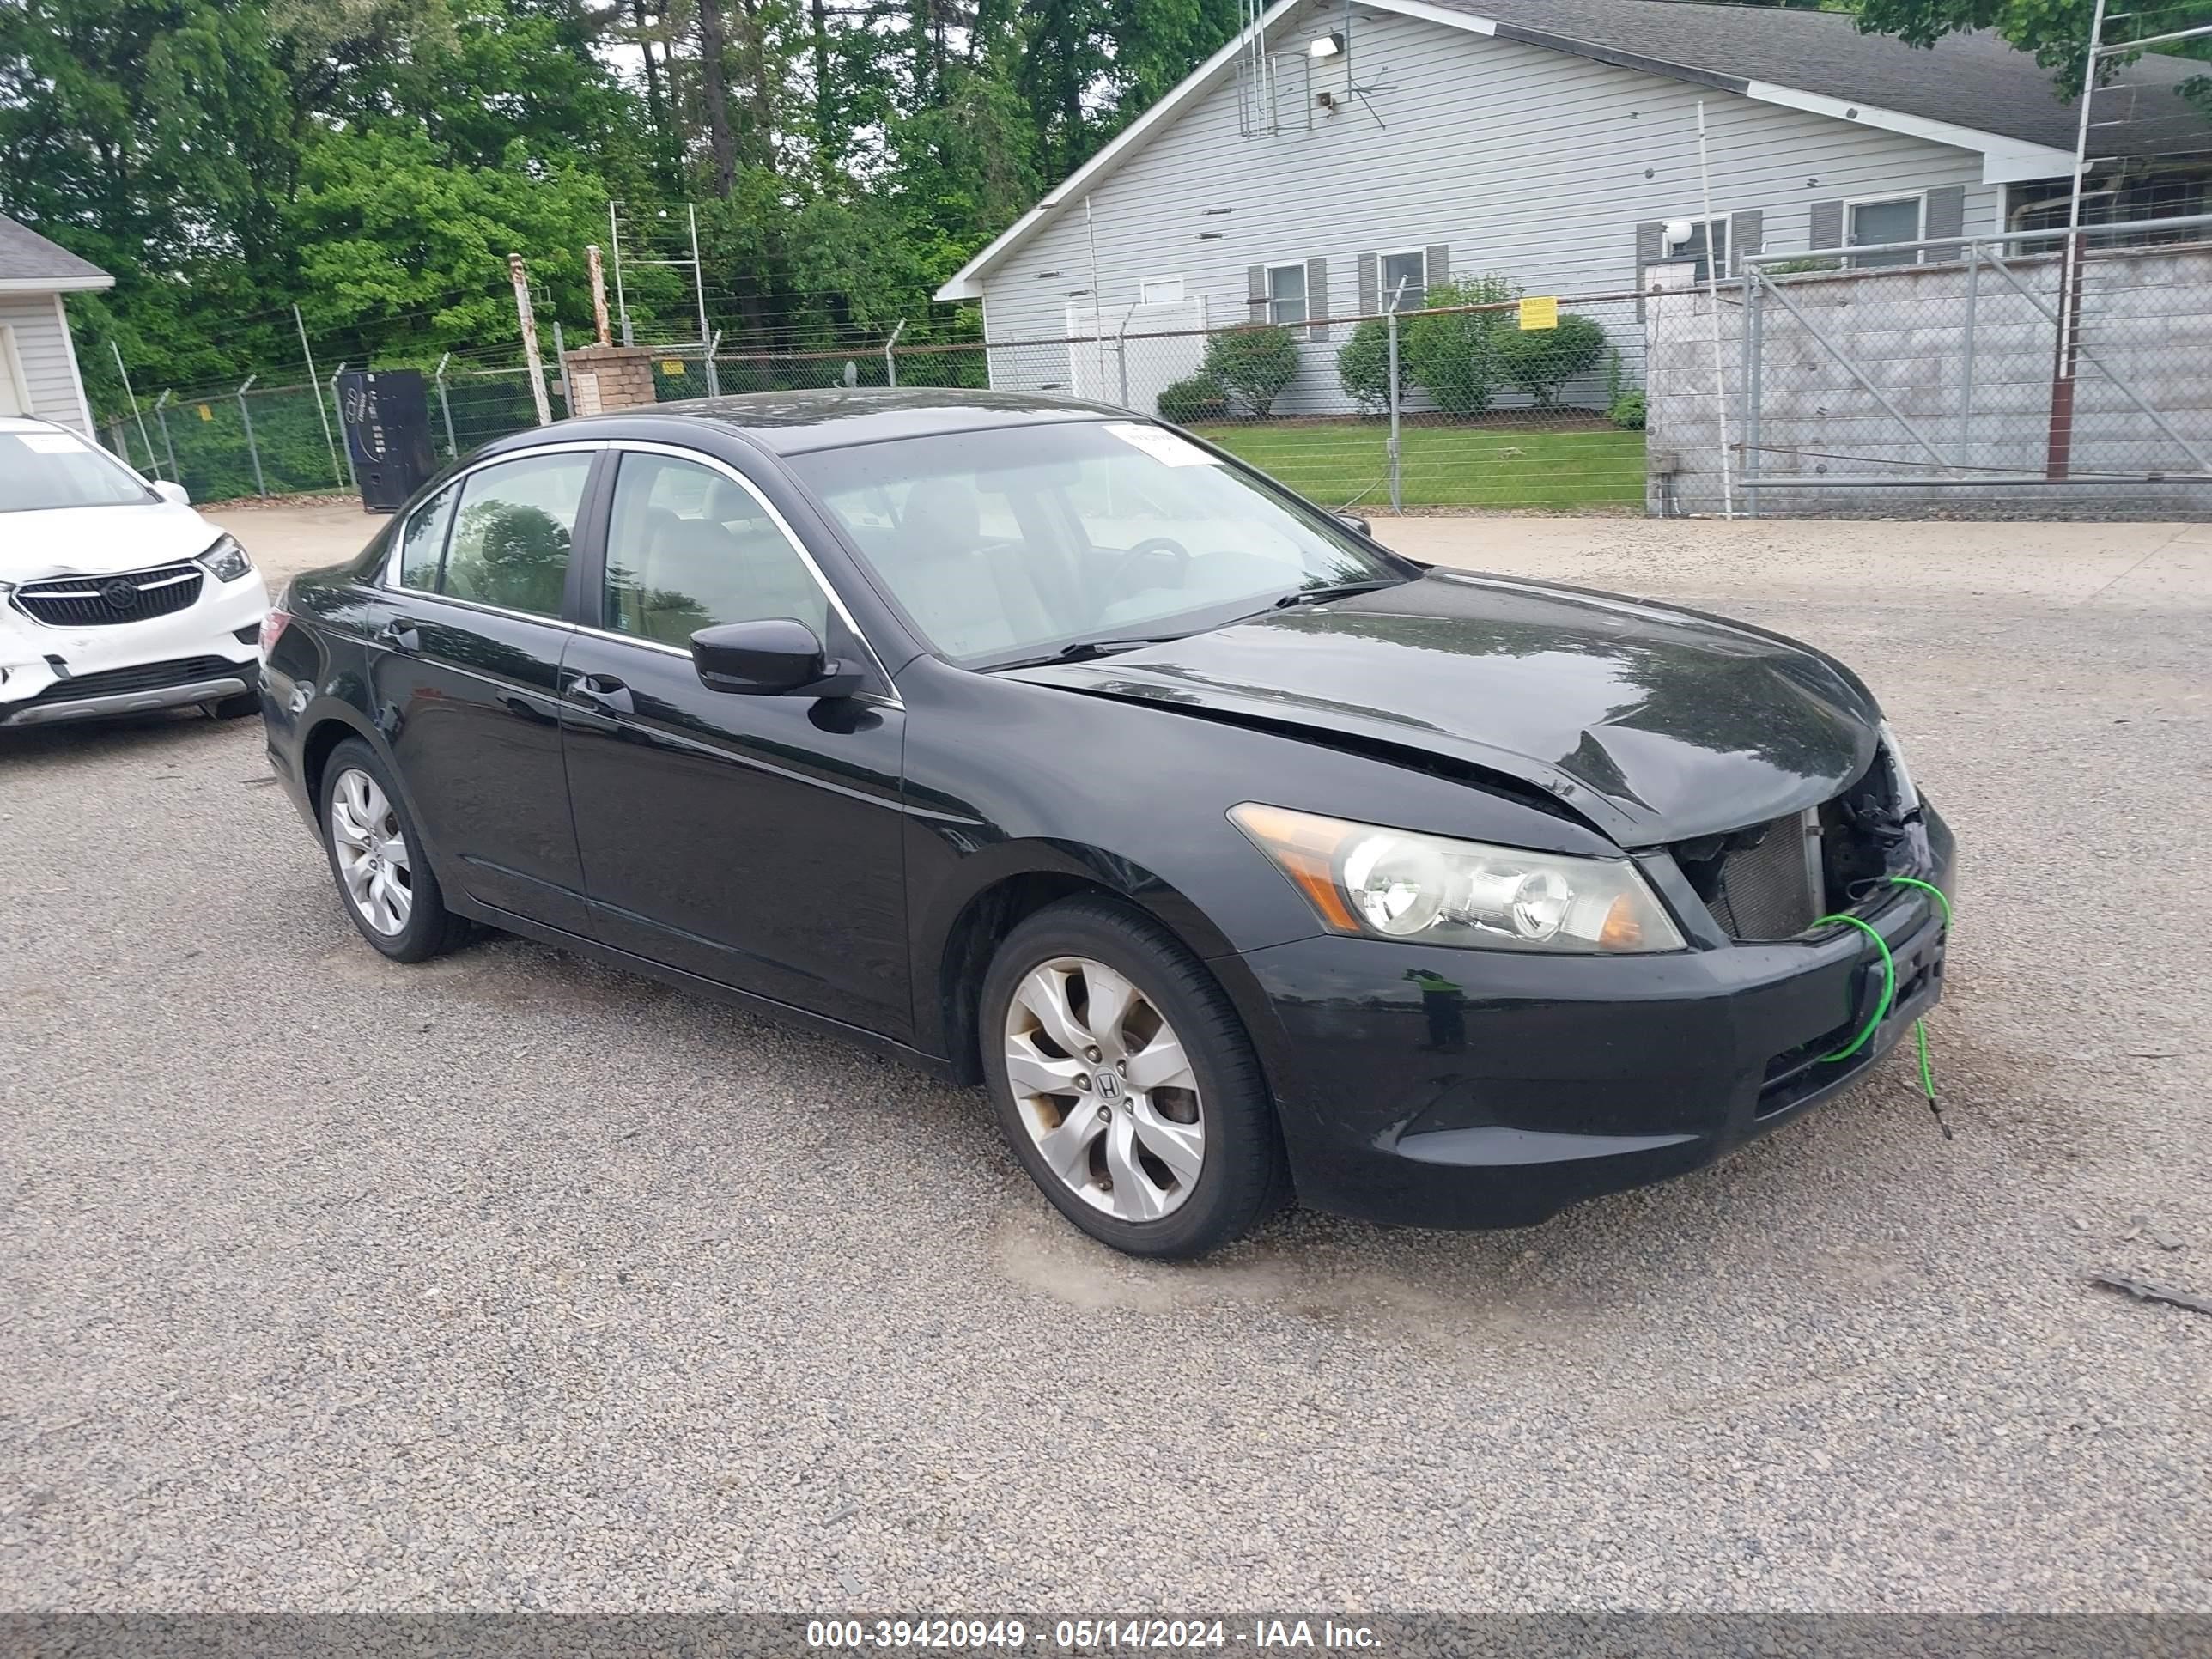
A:
[[[1907,46],[1863,35],[1849,13],[1699,0],[1431,0],[1486,18],[1498,35],[1635,69],[1701,80],[1732,93],[1752,82],[1794,86],[1851,104],[1951,122],[2073,150],[2075,100],[2031,53],[1980,29]],[[2124,91],[2097,97],[2090,155],[2141,157],[2212,150],[2212,115],[2174,91],[2205,66],[2148,53],[2119,71]],[[2110,124],[2108,124],[2110,122]]]

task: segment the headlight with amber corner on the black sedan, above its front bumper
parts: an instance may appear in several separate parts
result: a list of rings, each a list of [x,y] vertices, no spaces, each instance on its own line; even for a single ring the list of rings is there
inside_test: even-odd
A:
[[[1274,858],[1332,933],[1502,951],[1679,951],[1626,858],[1489,847],[1245,801],[1230,821]]]

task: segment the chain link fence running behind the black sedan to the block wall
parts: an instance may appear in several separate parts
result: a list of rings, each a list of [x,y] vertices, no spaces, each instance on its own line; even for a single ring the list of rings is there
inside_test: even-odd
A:
[[[1327,507],[1641,504],[1637,294],[1615,288],[1531,301],[1504,276],[1447,283],[1438,272],[1425,294],[1394,299],[1354,316],[1301,310],[1296,319],[1248,314],[1225,325],[1208,323],[1203,301],[1126,305],[1088,319],[1084,332],[991,343],[719,352],[692,341],[648,349],[664,403],[843,385],[1088,398],[1186,425]],[[551,363],[544,374],[557,420],[568,411],[562,376]],[[447,356],[427,380],[440,456],[469,453],[538,420],[520,363]],[[197,500],[352,487],[343,431],[323,436],[323,418],[334,420],[336,409],[330,380],[243,396],[161,394],[157,403],[111,422],[108,442],[135,465],[179,478]]]

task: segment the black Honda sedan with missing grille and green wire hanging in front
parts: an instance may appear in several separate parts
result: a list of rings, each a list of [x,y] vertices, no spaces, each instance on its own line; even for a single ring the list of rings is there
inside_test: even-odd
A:
[[[270,759],[385,956],[491,925],[989,1088],[1079,1228],[1522,1225],[1856,1082],[1951,836],[1772,633],[1398,557],[962,392],[568,420],[296,577]]]

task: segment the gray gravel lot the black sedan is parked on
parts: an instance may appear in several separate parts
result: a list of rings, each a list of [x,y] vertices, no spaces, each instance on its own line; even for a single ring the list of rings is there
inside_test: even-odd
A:
[[[385,964],[259,726],[0,734],[0,1604],[2212,1610],[2212,1318],[2084,1283],[2212,1294],[2212,529],[1385,538],[1867,675],[1964,856],[1955,1141],[1891,1060],[1531,1232],[1141,1267],[975,1095]]]

